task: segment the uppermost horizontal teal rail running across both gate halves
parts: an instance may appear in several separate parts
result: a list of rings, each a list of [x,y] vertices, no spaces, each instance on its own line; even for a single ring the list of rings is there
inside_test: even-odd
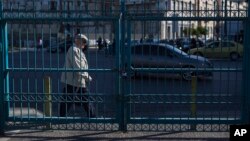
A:
[[[79,11],[76,11],[76,13]],[[209,11],[205,11],[207,13]],[[213,12],[213,11],[212,11]],[[223,11],[225,12],[225,11]],[[221,12],[221,13],[223,13]],[[155,21],[161,21],[161,20],[175,20],[175,21],[242,21],[247,19],[247,11],[236,11],[237,14],[232,15],[216,15],[220,13],[214,13],[213,15],[204,15],[202,14],[201,16],[189,16],[186,14],[187,12],[171,12],[172,14],[163,14],[163,13],[126,13],[126,18],[131,19],[131,20],[140,20],[140,21],[150,21],[150,20],[155,20]],[[70,12],[70,13],[74,13]],[[230,13],[230,12],[228,12]],[[162,16],[159,16],[162,15]],[[155,15],[155,16],[154,16]],[[9,12],[9,13],[4,13],[3,18],[4,20],[10,21],[57,21],[57,20],[63,20],[65,22],[67,21],[110,21],[110,20],[117,20],[119,19],[119,15],[112,15],[112,16],[106,16],[106,17],[100,17],[100,16],[67,16],[67,17],[62,17],[60,13],[40,13],[39,15],[34,15],[33,12],[27,13],[27,12]]]

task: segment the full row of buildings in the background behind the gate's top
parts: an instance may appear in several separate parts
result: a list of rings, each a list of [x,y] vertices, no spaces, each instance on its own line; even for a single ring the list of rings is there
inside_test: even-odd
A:
[[[181,13],[189,12],[192,16],[200,16],[198,11],[221,11],[227,9],[230,14],[237,14],[238,9],[245,9],[246,5],[242,1],[227,0],[125,0],[128,14],[133,16],[163,17],[185,17]],[[9,12],[31,11],[39,16],[40,11],[47,11],[48,14],[55,14],[63,18],[70,17],[110,17],[119,14],[119,0],[5,0],[4,9]],[[79,12],[72,12],[79,11]],[[176,13],[176,14],[173,14]],[[218,12],[218,16],[223,13]],[[43,13],[44,14],[44,13]],[[209,14],[209,12],[208,12]],[[225,36],[240,32],[242,23],[237,21],[150,21],[138,20],[131,23],[131,33],[133,39],[153,37],[155,39],[176,39],[182,37],[192,37],[183,31],[189,28],[202,26],[208,33],[204,38],[214,36]],[[115,25],[112,21],[69,21],[45,23],[18,23],[12,22],[8,25],[9,36],[15,44],[20,44],[20,40],[37,40],[41,36],[49,38],[65,38],[67,34],[86,33],[92,39],[99,36],[112,40],[115,33]],[[28,35],[28,37],[27,37]],[[35,35],[35,36],[34,36]],[[28,39],[27,39],[28,38]],[[17,41],[14,39],[18,39]]]

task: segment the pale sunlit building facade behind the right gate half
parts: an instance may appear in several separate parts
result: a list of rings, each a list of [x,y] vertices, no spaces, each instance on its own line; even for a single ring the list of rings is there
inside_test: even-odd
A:
[[[226,4],[227,3],[227,6]],[[181,13],[190,12],[192,16],[204,16],[201,15],[204,12],[206,14],[215,14],[214,16],[224,16],[223,12],[217,12],[227,9],[229,14],[236,14],[237,10],[246,9],[246,3],[242,0],[127,0],[127,9],[129,11],[134,11],[136,13],[142,13],[147,11],[151,12],[150,16],[156,14],[162,14],[164,17],[169,16],[180,16],[185,17],[185,14]],[[199,12],[202,11],[202,12]],[[171,15],[171,12],[177,13],[176,15]],[[230,16],[230,15],[228,15]],[[234,15],[235,16],[235,15]],[[147,18],[147,17],[145,17]],[[219,22],[219,21],[160,21],[160,22],[145,22],[138,21],[134,23],[133,32],[135,38],[139,36],[147,36],[148,34],[154,36],[158,39],[176,39],[182,37],[192,37],[191,34],[184,34],[185,29],[193,29],[201,26],[206,28],[207,34],[201,35],[203,38],[214,38],[226,35],[234,35],[240,30],[242,30],[242,23],[240,22]],[[228,34],[225,34],[228,32]],[[139,35],[141,34],[141,35]]]

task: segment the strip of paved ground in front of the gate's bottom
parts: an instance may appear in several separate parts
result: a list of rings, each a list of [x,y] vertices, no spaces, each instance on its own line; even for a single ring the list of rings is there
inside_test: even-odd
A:
[[[228,132],[117,132],[117,131],[10,131],[0,141],[130,141],[130,140],[180,140],[180,141],[228,141]]]

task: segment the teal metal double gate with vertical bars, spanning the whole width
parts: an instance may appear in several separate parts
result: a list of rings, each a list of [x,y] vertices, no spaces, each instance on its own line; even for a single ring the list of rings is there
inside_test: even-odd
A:
[[[1,133],[227,131],[249,123],[248,4],[1,1]],[[78,33],[89,39],[89,69],[66,70]],[[87,100],[66,102],[91,103],[96,117],[77,105],[59,116],[62,72],[92,76]]]

